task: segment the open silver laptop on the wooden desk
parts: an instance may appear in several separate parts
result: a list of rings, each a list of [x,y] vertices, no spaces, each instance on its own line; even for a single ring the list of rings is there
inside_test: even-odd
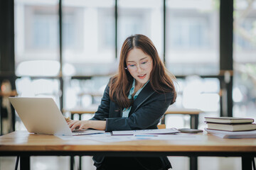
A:
[[[90,135],[104,130],[75,130],[71,132],[53,98],[9,97],[28,132],[48,135]]]

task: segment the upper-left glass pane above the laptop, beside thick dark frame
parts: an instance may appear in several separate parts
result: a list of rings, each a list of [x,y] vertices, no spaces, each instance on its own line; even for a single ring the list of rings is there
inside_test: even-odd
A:
[[[58,1],[15,1],[17,76],[57,76]]]

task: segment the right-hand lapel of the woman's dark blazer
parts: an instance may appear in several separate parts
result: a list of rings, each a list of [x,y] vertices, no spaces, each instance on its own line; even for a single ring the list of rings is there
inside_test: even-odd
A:
[[[142,89],[142,91],[139,93],[139,95],[135,99],[132,105],[131,111],[129,112],[129,115],[134,113],[134,111],[137,111],[139,106],[141,106],[142,103],[144,103],[144,101],[146,101],[147,98],[149,98],[152,94],[154,94],[154,92],[155,91],[151,88],[150,82],[146,84],[146,86],[144,86],[144,89]]]

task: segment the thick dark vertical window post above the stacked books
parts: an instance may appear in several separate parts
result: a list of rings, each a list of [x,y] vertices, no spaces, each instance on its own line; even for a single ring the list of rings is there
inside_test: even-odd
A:
[[[228,74],[226,74],[228,73]],[[233,0],[220,0],[220,116],[233,116]],[[230,77],[225,81],[224,77]]]

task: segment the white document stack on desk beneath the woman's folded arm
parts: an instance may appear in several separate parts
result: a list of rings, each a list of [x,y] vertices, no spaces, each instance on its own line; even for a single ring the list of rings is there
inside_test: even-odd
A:
[[[153,129],[153,130],[118,130],[112,131],[112,135],[164,135],[164,134],[175,134],[179,131],[176,128],[168,129]]]

